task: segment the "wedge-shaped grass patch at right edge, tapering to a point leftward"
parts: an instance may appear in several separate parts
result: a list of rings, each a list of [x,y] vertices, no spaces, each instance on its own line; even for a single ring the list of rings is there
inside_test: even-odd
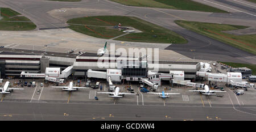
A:
[[[202,22],[189,22],[183,20],[175,20],[175,23],[181,27],[198,32],[202,35],[212,37],[213,39],[220,40],[226,44],[235,46],[236,48],[245,50],[247,52],[256,54],[256,35],[231,35],[221,31],[231,31],[235,29],[247,28],[241,25],[228,25],[216,23],[202,23]]]

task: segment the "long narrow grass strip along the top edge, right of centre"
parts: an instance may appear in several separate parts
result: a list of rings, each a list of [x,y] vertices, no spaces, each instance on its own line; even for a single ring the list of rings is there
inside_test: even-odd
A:
[[[112,0],[114,2],[122,3],[128,6],[142,6],[142,7],[157,7],[157,8],[171,8],[177,10],[191,10],[204,12],[220,12],[226,13],[224,10],[207,6],[191,0]]]

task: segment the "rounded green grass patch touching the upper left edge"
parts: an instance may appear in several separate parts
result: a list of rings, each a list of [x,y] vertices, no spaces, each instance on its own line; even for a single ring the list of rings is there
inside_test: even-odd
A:
[[[18,12],[11,10],[10,8],[1,8],[0,30],[5,31],[26,31],[36,28],[36,25],[30,21],[30,19],[21,15]],[[6,22],[12,21],[12,22]],[[27,22],[20,22],[27,21]]]

